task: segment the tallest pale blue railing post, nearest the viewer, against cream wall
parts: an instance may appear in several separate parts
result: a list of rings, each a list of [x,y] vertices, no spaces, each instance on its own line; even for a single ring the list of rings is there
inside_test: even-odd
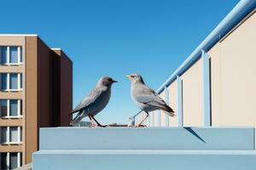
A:
[[[205,127],[211,126],[211,96],[210,96],[210,61],[209,55],[201,50],[202,77],[203,77],[203,115]]]

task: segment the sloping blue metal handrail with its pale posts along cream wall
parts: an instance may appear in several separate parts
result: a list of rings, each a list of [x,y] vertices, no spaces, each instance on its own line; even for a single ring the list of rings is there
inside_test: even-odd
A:
[[[176,71],[174,71],[166,82],[164,82],[160,88],[157,89],[156,93],[160,94],[165,88],[168,88],[172,82],[178,81],[177,87],[177,116],[178,124],[182,126],[182,116],[183,116],[183,104],[182,104],[182,79],[181,75],[189,68],[194,65],[198,59],[203,60],[203,114],[205,126],[211,126],[210,117],[210,85],[209,85],[209,56],[207,51],[210,50],[221,38],[225,37],[241,20],[243,20],[247,14],[253,11],[256,7],[256,0],[241,0],[236,4],[229,14],[222,20],[216,28],[207,36],[207,38],[201,42],[201,44],[195,48],[192,54],[180,65]],[[130,120],[132,124],[135,124],[135,118],[143,111],[139,111],[136,115],[131,116]]]

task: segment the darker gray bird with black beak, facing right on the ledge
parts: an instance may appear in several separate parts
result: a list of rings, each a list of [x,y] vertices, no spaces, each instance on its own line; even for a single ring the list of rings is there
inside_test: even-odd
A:
[[[77,105],[75,109],[69,113],[69,115],[71,115],[79,112],[78,115],[73,118],[72,122],[70,122],[70,124],[76,126],[85,116],[89,116],[92,126],[105,127],[97,122],[94,116],[96,116],[97,113],[102,111],[106,105],[108,105],[113,82],[117,81],[113,80],[111,77],[102,77],[97,82],[96,88],[94,88],[90,94],[88,94],[79,103],[79,105]]]

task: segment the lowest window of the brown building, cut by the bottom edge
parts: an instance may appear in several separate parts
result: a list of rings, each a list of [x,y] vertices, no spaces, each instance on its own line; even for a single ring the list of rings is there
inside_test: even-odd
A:
[[[1,169],[10,170],[10,169],[15,169],[16,167],[20,167],[21,157],[22,157],[22,154],[20,152],[1,153],[0,155]]]

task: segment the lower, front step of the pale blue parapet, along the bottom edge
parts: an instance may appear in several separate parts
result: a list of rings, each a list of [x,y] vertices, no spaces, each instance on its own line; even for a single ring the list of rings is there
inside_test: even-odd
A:
[[[43,150],[33,170],[255,170],[254,150]]]

